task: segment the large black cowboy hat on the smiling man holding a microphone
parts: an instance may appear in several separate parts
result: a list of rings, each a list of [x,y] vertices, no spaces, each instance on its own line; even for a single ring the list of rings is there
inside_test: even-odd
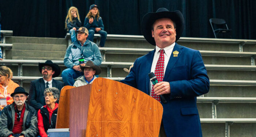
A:
[[[152,37],[151,33],[151,27],[155,20],[161,19],[161,18],[169,18],[176,24],[176,41],[181,37],[181,34],[184,29],[184,17],[180,11],[169,11],[166,8],[159,8],[157,9],[157,12],[148,12],[146,15],[144,15],[142,22],[141,22],[141,28],[144,38],[149,42],[150,44],[155,46],[155,39]],[[176,42],[175,41],[175,42]]]

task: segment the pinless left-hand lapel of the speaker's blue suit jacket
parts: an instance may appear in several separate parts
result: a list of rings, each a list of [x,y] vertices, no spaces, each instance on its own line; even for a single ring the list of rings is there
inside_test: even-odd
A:
[[[155,54],[155,49],[153,51],[151,51],[150,53],[147,54],[146,56],[146,73],[150,73],[151,71],[151,66],[152,66],[152,62],[153,62],[153,58],[154,58],[154,54]],[[149,83],[150,83],[150,80],[149,80],[149,77],[148,75],[146,76],[146,91],[147,91],[147,94],[149,95],[150,94],[150,91],[149,91]]]

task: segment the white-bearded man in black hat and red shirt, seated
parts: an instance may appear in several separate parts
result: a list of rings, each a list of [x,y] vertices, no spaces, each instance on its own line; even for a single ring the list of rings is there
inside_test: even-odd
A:
[[[4,107],[0,115],[0,137],[35,137],[37,114],[25,101],[29,95],[24,88],[17,87],[11,94],[14,102]]]

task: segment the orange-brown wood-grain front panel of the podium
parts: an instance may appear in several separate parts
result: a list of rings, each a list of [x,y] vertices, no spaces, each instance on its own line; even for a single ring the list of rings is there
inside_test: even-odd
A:
[[[158,137],[163,107],[126,84],[103,78],[91,87],[87,137]]]

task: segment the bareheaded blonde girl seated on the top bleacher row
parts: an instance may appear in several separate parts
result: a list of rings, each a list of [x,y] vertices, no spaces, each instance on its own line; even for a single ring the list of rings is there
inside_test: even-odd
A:
[[[68,15],[66,17],[65,28],[71,35],[71,42],[76,41],[76,30],[82,26],[78,9],[76,7],[70,7],[68,9]]]

